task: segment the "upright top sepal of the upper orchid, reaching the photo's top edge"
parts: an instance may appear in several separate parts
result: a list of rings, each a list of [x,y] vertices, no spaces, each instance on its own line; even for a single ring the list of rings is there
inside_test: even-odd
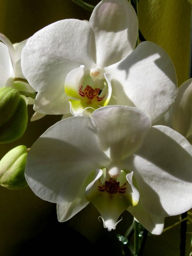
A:
[[[97,64],[112,65],[126,57],[136,45],[138,21],[127,0],[103,0],[89,20],[96,41]]]

